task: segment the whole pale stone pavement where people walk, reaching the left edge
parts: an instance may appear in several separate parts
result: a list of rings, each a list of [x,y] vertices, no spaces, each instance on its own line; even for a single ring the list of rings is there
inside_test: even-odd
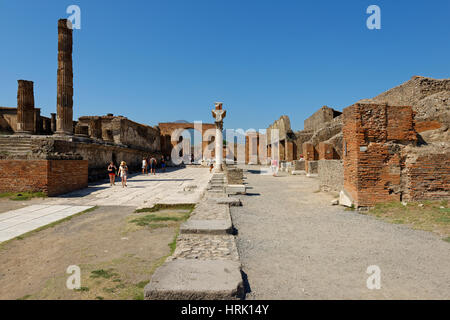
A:
[[[0,213],[0,242],[77,214],[93,206],[151,207],[156,203],[196,203],[208,184],[207,168],[171,169],[156,175],[134,174],[128,187],[109,182]],[[118,179],[117,179],[118,180]],[[196,186],[196,187],[193,187]]]

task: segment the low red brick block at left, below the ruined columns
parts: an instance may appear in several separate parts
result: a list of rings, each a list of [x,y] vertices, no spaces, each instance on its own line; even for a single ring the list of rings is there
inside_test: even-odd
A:
[[[0,160],[0,192],[56,196],[88,186],[87,160]]]

